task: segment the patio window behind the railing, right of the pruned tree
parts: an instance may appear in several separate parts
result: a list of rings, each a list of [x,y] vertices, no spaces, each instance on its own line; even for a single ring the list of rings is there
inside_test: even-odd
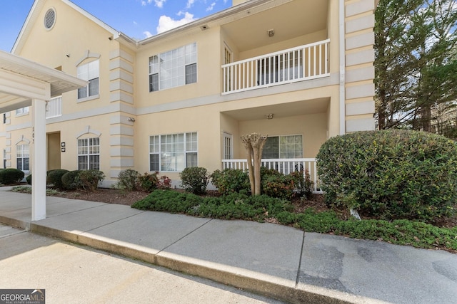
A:
[[[303,157],[302,135],[271,136],[263,146],[262,158],[301,158]]]

